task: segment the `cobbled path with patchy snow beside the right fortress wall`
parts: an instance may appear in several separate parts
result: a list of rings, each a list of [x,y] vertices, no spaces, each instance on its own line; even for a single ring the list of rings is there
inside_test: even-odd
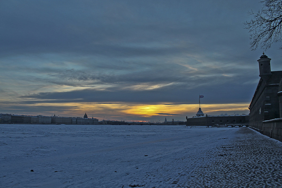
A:
[[[177,187],[282,187],[282,143],[249,128],[216,147],[216,160],[202,163]]]

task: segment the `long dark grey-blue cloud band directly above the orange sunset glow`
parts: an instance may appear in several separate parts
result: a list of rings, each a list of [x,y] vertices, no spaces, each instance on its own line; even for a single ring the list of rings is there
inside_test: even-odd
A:
[[[239,85],[239,86],[238,86]],[[238,89],[239,88],[239,89]],[[197,96],[203,94],[208,98],[205,103],[236,103],[248,102],[252,97],[255,87],[249,85],[241,85],[239,83],[222,83],[221,85],[207,85],[188,89],[187,87],[169,86],[154,90],[94,90],[84,89],[69,92],[45,92],[39,94],[25,95],[21,98],[34,99],[35,103],[42,101],[43,103],[52,102],[126,102],[126,103],[144,103],[144,104],[160,104],[181,103],[193,104],[197,103]],[[195,92],[198,91],[198,92]],[[247,93],[247,94],[246,94]],[[32,102],[32,101],[30,101]]]

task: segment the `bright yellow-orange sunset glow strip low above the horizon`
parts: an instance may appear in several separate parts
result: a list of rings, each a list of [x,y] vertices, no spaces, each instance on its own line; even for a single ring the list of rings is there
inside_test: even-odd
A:
[[[104,114],[112,112],[116,116],[107,116],[107,119],[120,120],[119,117],[124,117],[123,120],[142,121],[142,118],[154,117],[154,116],[181,116],[185,120],[185,116],[193,116],[199,109],[198,104],[125,104],[125,103],[114,103],[114,104],[101,104],[101,103],[36,103],[34,106],[53,106],[53,107],[68,107],[67,111],[61,112],[46,112],[47,115],[66,116],[66,117],[79,117],[81,114],[87,112],[89,117],[103,119]],[[202,110],[208,115],[218,115],[225,112],[232,114],[246,113],[248,114],[249,103],[230,103],[230,104],[204,104],[201,105]],[[140,117],[138,119],[137,117]]]

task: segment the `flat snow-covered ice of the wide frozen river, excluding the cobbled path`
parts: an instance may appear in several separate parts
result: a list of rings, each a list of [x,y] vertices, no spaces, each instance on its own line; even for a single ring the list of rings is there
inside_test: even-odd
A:
[[[190,187],[194,172],[202,168],[207,171],[209,163],[225,157],[222,145],[229,145],[238,130],[249,129],[169,125],[0,127],[0,187],[97,188],[169,188],[180,186],[181,181],[186,186],[180,187]],[[216,174],[217,169],[207,173]],[[200,179],[193,183],[191,187],[203,185]]]

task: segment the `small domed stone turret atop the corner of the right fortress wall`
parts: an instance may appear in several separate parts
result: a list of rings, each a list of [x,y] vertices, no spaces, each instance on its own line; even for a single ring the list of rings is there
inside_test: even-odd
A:
[[[264,81],[267,81],[271,76],[270,58],[268,58],[264,52],[257,60],[259,62],[259,77]]]

